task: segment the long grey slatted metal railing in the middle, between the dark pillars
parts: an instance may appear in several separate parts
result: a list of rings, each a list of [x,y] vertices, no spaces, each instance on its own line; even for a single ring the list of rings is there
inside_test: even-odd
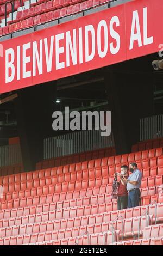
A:
[[[101,131],[77,131],[44,139],[43,159],[51,159],[86,151],[114,147],[111,133],[102,137]]]

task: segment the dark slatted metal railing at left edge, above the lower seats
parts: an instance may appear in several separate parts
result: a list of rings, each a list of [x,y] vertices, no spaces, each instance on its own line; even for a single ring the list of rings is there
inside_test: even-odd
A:
[[[21,162],[22,155],[20,144],[5,145],[0,147],[0,167],[10,166],[12,164]]]

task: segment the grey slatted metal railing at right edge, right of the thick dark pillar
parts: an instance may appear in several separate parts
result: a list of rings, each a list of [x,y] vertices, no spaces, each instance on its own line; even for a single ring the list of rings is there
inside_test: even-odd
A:
[[[163,114],[140,119],[140,141],[163,137]]]

